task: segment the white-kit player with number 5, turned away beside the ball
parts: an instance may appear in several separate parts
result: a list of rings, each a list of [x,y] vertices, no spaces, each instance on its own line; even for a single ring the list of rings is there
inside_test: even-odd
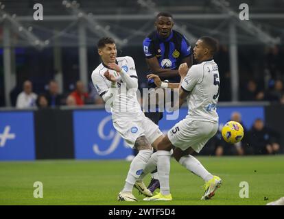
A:
[[[175,159],[205,181],[202,200],[210,199],[220,187],[220,177],[211,175],[191,154],[199,153],[204,144],[217,132],[218,115],[216,105],[220,93],[218,66],[213,60],[217,51],[217,41],[211,37],[201,37],[193,49],[193,57],[199,64],[191,66],[181,64],[180,83],[165,83],[157,75],[148,75],[162,88],[179,88],[179,107],[187,99],[187,116],[172,127],[158,144],[158,177],[161,183],[160,193],[145,201],[171,201],[169,191],[170,150],[174,149]]]

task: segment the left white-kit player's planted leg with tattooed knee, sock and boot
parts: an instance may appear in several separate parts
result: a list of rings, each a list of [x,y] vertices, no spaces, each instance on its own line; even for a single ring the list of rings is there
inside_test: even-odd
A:
[[[136,157],[134,157],[130,164],[126,183],[123,190],[119,192],[117,197],[119,201],[137,201],[137,198],[135,198],[132,194],[133,185],[143,172],[143,169],[152,155],[152,146],[145,136],[137,138],[134,147],[139,151],[139,153]]]

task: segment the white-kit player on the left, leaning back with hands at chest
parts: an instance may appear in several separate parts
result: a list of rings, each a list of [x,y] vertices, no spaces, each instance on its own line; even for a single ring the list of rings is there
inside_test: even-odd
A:
[[[135,187],[145,196],[152,196],[143,181],[137,181],[157,148],[163,133],[149,118],[145,117],[137,100],[138,77],[134,60],[130,56],[117,57],[115,40],[104,37],[97,43],[102,63],[93,70],[93,84],[104,101],[110,105],[113,126],[130,147],[139,153],[132,160],[124,188],[118,201],[137,201],[132,194]]]

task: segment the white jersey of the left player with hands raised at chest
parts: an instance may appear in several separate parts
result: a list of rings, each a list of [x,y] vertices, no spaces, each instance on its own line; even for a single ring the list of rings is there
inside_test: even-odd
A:
[[[123,70],[130,75],[130,77],[136,78],[137,73],[135,70],[134,60],[130,56],[117,57],[117,64],[123,68]],[[92,81],[100,96],[103,96],[110,88],[110,81],[104,77],[104,73],[109,70],[110,74],[117,77],[117,92],[112,103],[110,103],[110,109],[113,115],[113,121],[120,117],[137,117],[143,114],[141,106],[137,100],[137,94],[135,89],[126,89],[126,83],[123,83],[121,76],[115,70],[111,70],[103,62],[93,70]],[[137,82],[138,83],[138,82]]]

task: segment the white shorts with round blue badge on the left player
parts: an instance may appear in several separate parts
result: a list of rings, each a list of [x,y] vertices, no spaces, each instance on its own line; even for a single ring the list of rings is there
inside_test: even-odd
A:
[[[158,137],[163,136],[158,125],[144,114],[138,118],[120,118],[113,122],[113,126],[131,148],[134,147],[135,141],[140,136],[145,136],[150,144]]]

